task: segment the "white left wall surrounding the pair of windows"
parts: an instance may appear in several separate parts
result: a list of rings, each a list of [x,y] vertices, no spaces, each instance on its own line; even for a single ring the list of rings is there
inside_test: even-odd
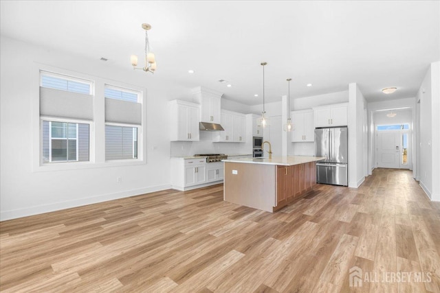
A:
[[[146,88],[146,164],[35,172],[32,144],[39,117],[36,62]],[[1,37],[0,219],[54,211],[170,187],[167,101],[189,92],[157,75],[115,68],[63,52]],[[38,147],[37,147],[38,148]],[[122,183],[116,177],[122,177]],[[74,178],[74,180],[72,180]]]

